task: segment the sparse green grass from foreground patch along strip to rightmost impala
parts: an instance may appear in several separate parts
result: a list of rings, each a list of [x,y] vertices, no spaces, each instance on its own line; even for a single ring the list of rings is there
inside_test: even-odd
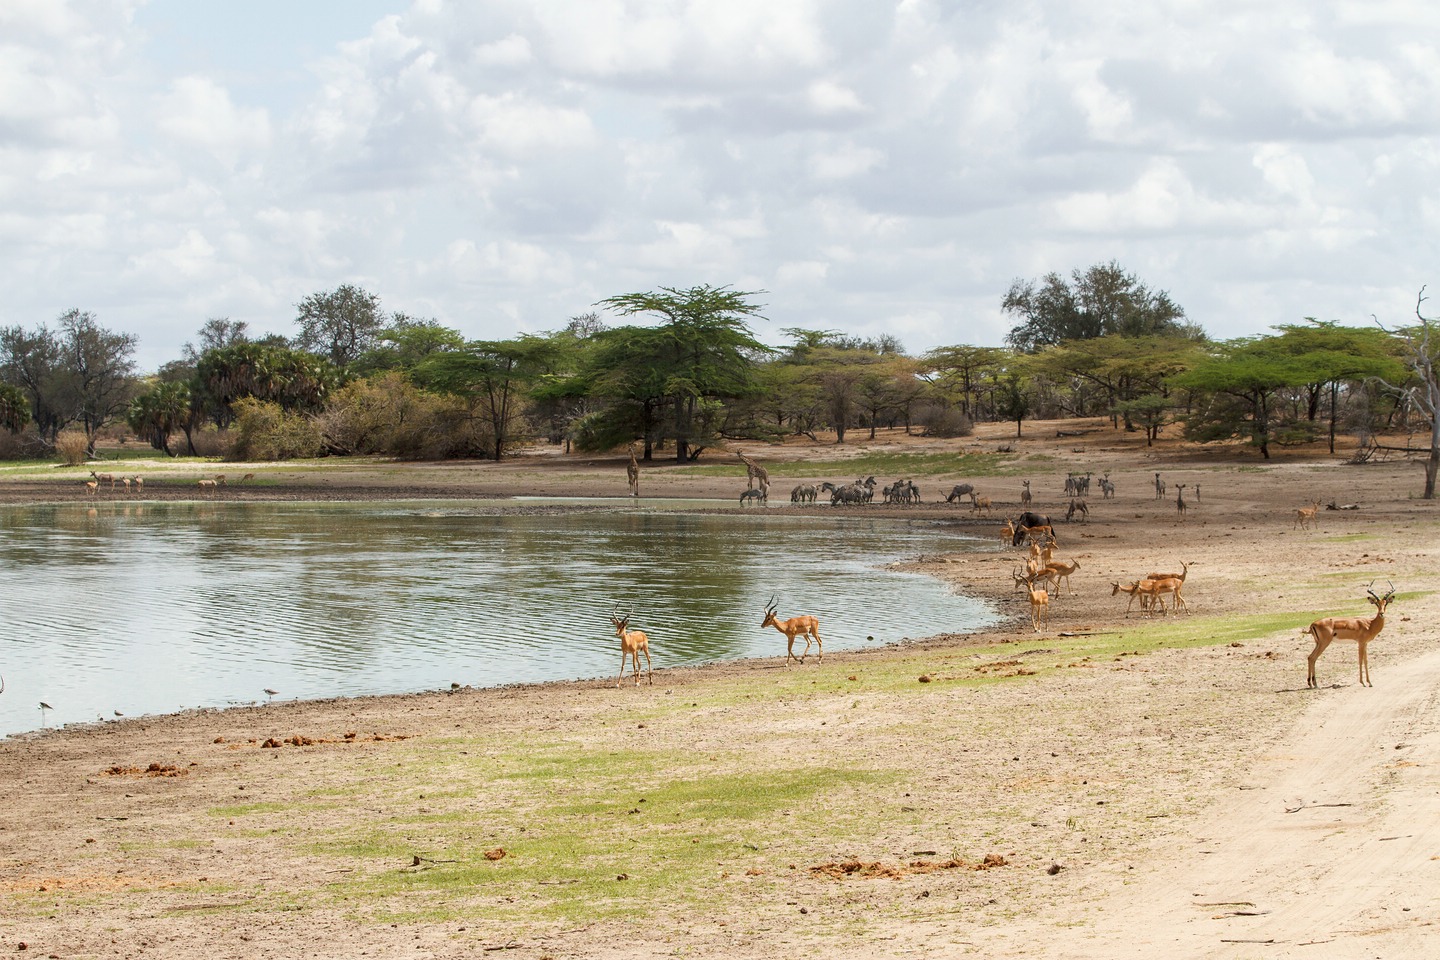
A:
[[[351,908],[369,904],[373,920],[664,921],[729,897],[785,897],[796,864],[814,864],[827,851],[871,848],[877,818],[888,829],[923,818],[903,806],[896,812],[893,797],[916,771],[891,766],[884,744],[893,737],[955,743],[959,691],[1014,682],[1043,688],[1047,678],[1073,675],[1074,668],[1166,649],[1253,643],[1299,632],[1319,613],[1176,617],[1086,636],[917,651],[861,666],[825,664],[779,676],[766,671],[687,689],[683,702],[619,708],[593,737],[527,743],[517,733],[418,743],[353,799],[357,809],[387,807],[383,815],[328,836],[297,833],[295,841],[311,853],[357,865],[330,894]],[[1040,688],[1037,698],[1056,695]],[[899,724],[870,728],[874,747],[860,754],[844,756],[818,746],[809,733],[766,725],[805,723],[818,733],[824,724],[816,718],[824,718],[844,728],[848,717],[867,715],[864,707],[874,698],[914,705]],[[760,715],[766,723],[755,720]],[[701,746],[721,731],[726,743],[743,744],[752,723],[785,746],[783,763],[757,763],[743,747]],[[971,718],[968,735],[1004,737],[1004,724],[991,730],[994,723]],[[641,733],[647,728],[670,740],[635,746],[648,738]],[[677,738],[697,747],[677,748]],[[445,784],[444,794],[436,784]],[[981,820],[1004,816],[972,813]],[[304,812],[284,819],[302,822]],[[504,856],[485,856],[501,849]],[[744,879],[717,885],[726,877]]]

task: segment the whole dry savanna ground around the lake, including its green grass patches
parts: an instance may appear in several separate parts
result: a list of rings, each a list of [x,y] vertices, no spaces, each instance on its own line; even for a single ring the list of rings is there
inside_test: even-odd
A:
[[[772,658],[675,668],[645,625],[654,685],[462,684],[12,737],[0,954],[1440,956],[1440,507],[1417,463],[1146,446],[1103,420],[848,440],[736,446],[769,469],[770,510],[829,511],[789,505],[802,481],[907,476],[922,505],[852,510],[986,537],[1022,479],[1058,518],[1068,472],[1107,472],[1115,498],[1093,486],[1089,520],[1057,522],[1080,567],[1048,630],[1015,593],[1021,551],[958,538],[907,566],[986,597],[994,629],[801,665],[775,633]],[[0,501],[86,498],[88,469],[0,472]],[[543,450],[127,471],[166,499],[215,472],[255,474],[229,499],[626,489],[622,456]],[[994,515],[936,502],[956,482]],[[744,484],[723,450],[641,475],[647,498]],[[1182,563],[1188,613],[1126,616],[1112,583]],[[1372,613],[1372,584],[1395,592],[1374,685],[1336,640],[1308,688],[1303,630]]]

